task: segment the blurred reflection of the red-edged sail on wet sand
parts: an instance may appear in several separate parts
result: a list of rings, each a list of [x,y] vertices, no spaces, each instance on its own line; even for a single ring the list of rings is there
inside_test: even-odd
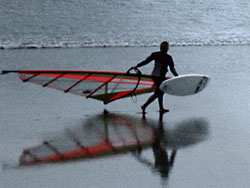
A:
[[[153,141],[152,127],[133,117],[104,113],[88,118],[80,126],[64,129],[39,146],[25,149],[19,164],[115,155],[149,147]]]

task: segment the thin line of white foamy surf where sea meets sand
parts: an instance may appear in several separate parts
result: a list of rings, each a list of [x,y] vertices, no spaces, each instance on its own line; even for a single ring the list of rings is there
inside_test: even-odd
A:
[[[92,47],[154,47],[159,41],[106,41],[106,42],[5,42],[0,43],[0,49],[42,49],[42,48],[92,48]],[[222,46],[222,45],[250,45],[248,40],[204,40],[204,41],[169,41],[171,46]]]

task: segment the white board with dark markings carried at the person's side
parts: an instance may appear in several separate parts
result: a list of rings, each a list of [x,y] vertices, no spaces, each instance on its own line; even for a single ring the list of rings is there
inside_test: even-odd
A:
[[[160,85],[160,89],[167,94],[186,96],[202,91],[210,78],[201,74],[186,74],[168,79]]]

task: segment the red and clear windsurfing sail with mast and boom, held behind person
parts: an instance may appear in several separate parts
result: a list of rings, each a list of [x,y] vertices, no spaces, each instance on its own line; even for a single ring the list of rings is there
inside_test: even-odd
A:
[[[77,70],[12,70],[23,82],[54,88],[64,93],[84,96],[108,104],[115,100],[150,93],[155,90],[151,75],[138,69],[131,73]],[[166,77],[168,79],[169,77]]]

